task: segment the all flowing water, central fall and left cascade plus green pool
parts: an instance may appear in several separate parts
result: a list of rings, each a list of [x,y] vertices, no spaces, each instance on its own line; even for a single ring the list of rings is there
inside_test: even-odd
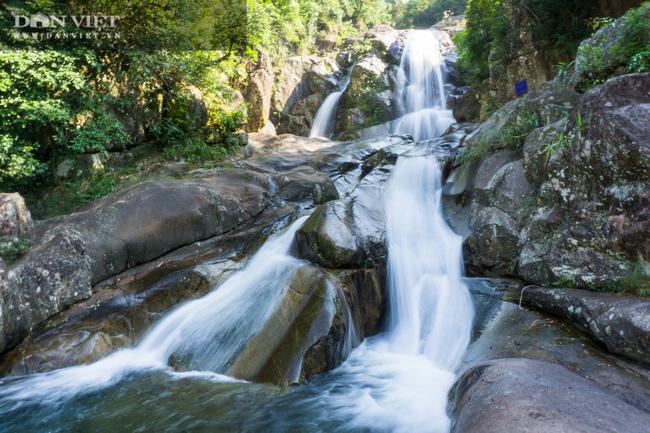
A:
[[[449,122],[432,40],[413,33],[397,89],[399,130],[422,139]],[[447,395],[473,308],[461,280],[461,239],[441,212],[435,149],[415,143],[413,150],[399,157],[385,185],[386,329],[339,368],[288,389],[222,374],[304,263],[290,254],[303,217],[218,289],[168,313],[137,347],[91,365],[0,380],[0,431],[447,432]],[[170,356],[191,371],[173,371]]]

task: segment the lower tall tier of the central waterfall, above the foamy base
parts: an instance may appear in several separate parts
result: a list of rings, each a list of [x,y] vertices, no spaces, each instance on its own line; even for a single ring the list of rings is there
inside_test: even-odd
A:
[[[453,371],[469,344],[472,302],[462,277],[462,238],[444,220],[434,157],[398,159],[386,192],[393,350],[423,354]]]

